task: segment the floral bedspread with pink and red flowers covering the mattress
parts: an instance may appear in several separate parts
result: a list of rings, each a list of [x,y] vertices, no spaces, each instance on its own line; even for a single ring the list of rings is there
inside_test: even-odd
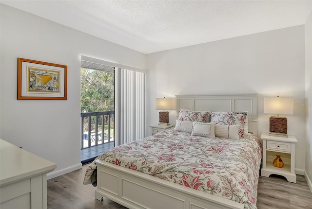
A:
[[[167,129],[115,147],[97,159],[256,209],[261,143],[252,134],[241,139],[210,139]],[[93,162],[84,184],[96,186],[95,169]]]

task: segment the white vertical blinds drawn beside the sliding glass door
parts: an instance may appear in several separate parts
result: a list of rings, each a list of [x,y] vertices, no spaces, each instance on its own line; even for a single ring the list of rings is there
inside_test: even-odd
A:
[[[115,143],[125,144],[145,136],[145,73],[115,70]]]

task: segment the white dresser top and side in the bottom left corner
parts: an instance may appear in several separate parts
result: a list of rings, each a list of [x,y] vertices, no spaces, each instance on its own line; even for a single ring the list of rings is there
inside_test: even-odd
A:
[[[56,167],[0,139],[0,208],[47,209],[46,174]]]

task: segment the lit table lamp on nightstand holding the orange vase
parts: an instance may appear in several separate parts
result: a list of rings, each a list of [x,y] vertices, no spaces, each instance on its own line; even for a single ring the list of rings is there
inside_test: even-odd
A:
[[[264,97],[263,113],[277,115],[270,117],[269,136],[288,137],[287,118],[279,115],[293,114],[292,97]]]

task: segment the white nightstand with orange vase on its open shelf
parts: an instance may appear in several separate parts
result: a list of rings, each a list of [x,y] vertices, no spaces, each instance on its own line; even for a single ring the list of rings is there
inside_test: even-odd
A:
[[[296,174],[294,173],[294,151],[295,144],[298,142],[294,136],[274,137],[268,133],[262,133],[263,156],[261,175],[269,177],[271,174],[282,175],[287,181],[296,183]],[[280,155],[284,162],[283,168],[277,168],[273,165],[276,155]]]

